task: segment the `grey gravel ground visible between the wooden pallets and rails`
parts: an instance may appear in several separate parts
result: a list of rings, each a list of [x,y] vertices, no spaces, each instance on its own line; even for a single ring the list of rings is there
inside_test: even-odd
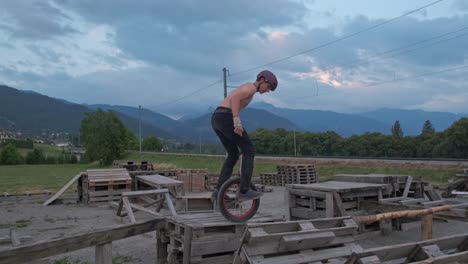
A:
[[[284,199],[284,187],[273,187],[273,189],[273,192],[265,193],[262,197],[259,212],[286,217],[287,205]],[[49,197],[48,195],[1,197],[0,238],[9,237],[9,229],[15,225],[20,237],[32,237],[31,240],[25,242],[30,244],[128,223],[127,218],[117,217],[115,209],[104,203],[92,206],[75,203],[42,206],[42,203]],[[150,215],[141,212],[137,212],[135,216],[137,220],[151,218]],[[466,230],[468,230],[468,224],[464,222],[434,221],[433,236],[437,238],[460,234]],[[376,235],[357,243],[363,248],[369,248],[418,241],[419,237],[420,227],[414,224],[407,226],[404,232],[396,231],[388,236]],[[10,248],[12,248],[10,244],[0,244],[0,250]],[[152,232],[114,241],[112,251],[116,258],[114,263],[154,264],[156,256],[155,234]],[[31,263],[54,263],[63,257],[67,257],[71,261],[70,263],[94,263],[94,248],[74,251]]]

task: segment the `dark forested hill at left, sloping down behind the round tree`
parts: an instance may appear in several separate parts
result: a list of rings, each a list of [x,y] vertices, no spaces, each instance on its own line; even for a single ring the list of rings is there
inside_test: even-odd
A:
[[[93,109],[80,104],[0,85],[0,128],[3,129],[26,135],[40,135],[45,131],[78,134],[81,120],[90,111]],[[138,134],[137,119],[120,112],[116,114],[126,127]],[[172,136],[147,123],[142,123],[142,135]]]

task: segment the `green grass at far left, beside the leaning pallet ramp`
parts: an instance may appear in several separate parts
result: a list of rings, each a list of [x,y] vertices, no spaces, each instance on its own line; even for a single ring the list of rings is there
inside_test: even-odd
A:
[[[97,164],[2,165],[0,192],[56,191],[79,172]]]

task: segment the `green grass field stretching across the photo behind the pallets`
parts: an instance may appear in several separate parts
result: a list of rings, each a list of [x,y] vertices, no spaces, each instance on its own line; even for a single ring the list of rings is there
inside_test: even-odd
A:
[[[206,168],[211,173],[219,173],[222,157],[196,157],[167,154],[139,154],[131,153],[125,159],[143,159],[152,161],[157,168]],[[318,164],[321,181],[330,180],[335,174],[404,174],[421,176],[425,181],[434,185],[447,183],[447,180],[457,173],[461,173],[460,168],[439,168],[439,167],[411,167],[411,166],[350,166],[346,164]],[[54,165],[16,165],[0,166],[0,193],[2,192],[25,192],[50,190],[56,191],[64,186],[78,172],[86,169],[100,168],[97,163],[91,164],[54,164]],[[102,167],[101,167],[102,168]],[[239,167],[235,168],[238,171]],[[276,164],[272,162],[256,162],[254,176],[265,172],[276,172]]]

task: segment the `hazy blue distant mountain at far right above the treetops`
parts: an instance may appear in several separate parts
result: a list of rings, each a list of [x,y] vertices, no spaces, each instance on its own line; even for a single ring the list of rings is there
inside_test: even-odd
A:
[[[360,115],[378,120],[392,126],[396,120],[400,121],[403,133],[407,136],[419,135],[424,122],[430,120],[436,131],[449,128],[455,121],[467,114],[452,114],[446,112],[426,112],[422,110],[401,110],[382,108],[375,111],[361,113]]]

